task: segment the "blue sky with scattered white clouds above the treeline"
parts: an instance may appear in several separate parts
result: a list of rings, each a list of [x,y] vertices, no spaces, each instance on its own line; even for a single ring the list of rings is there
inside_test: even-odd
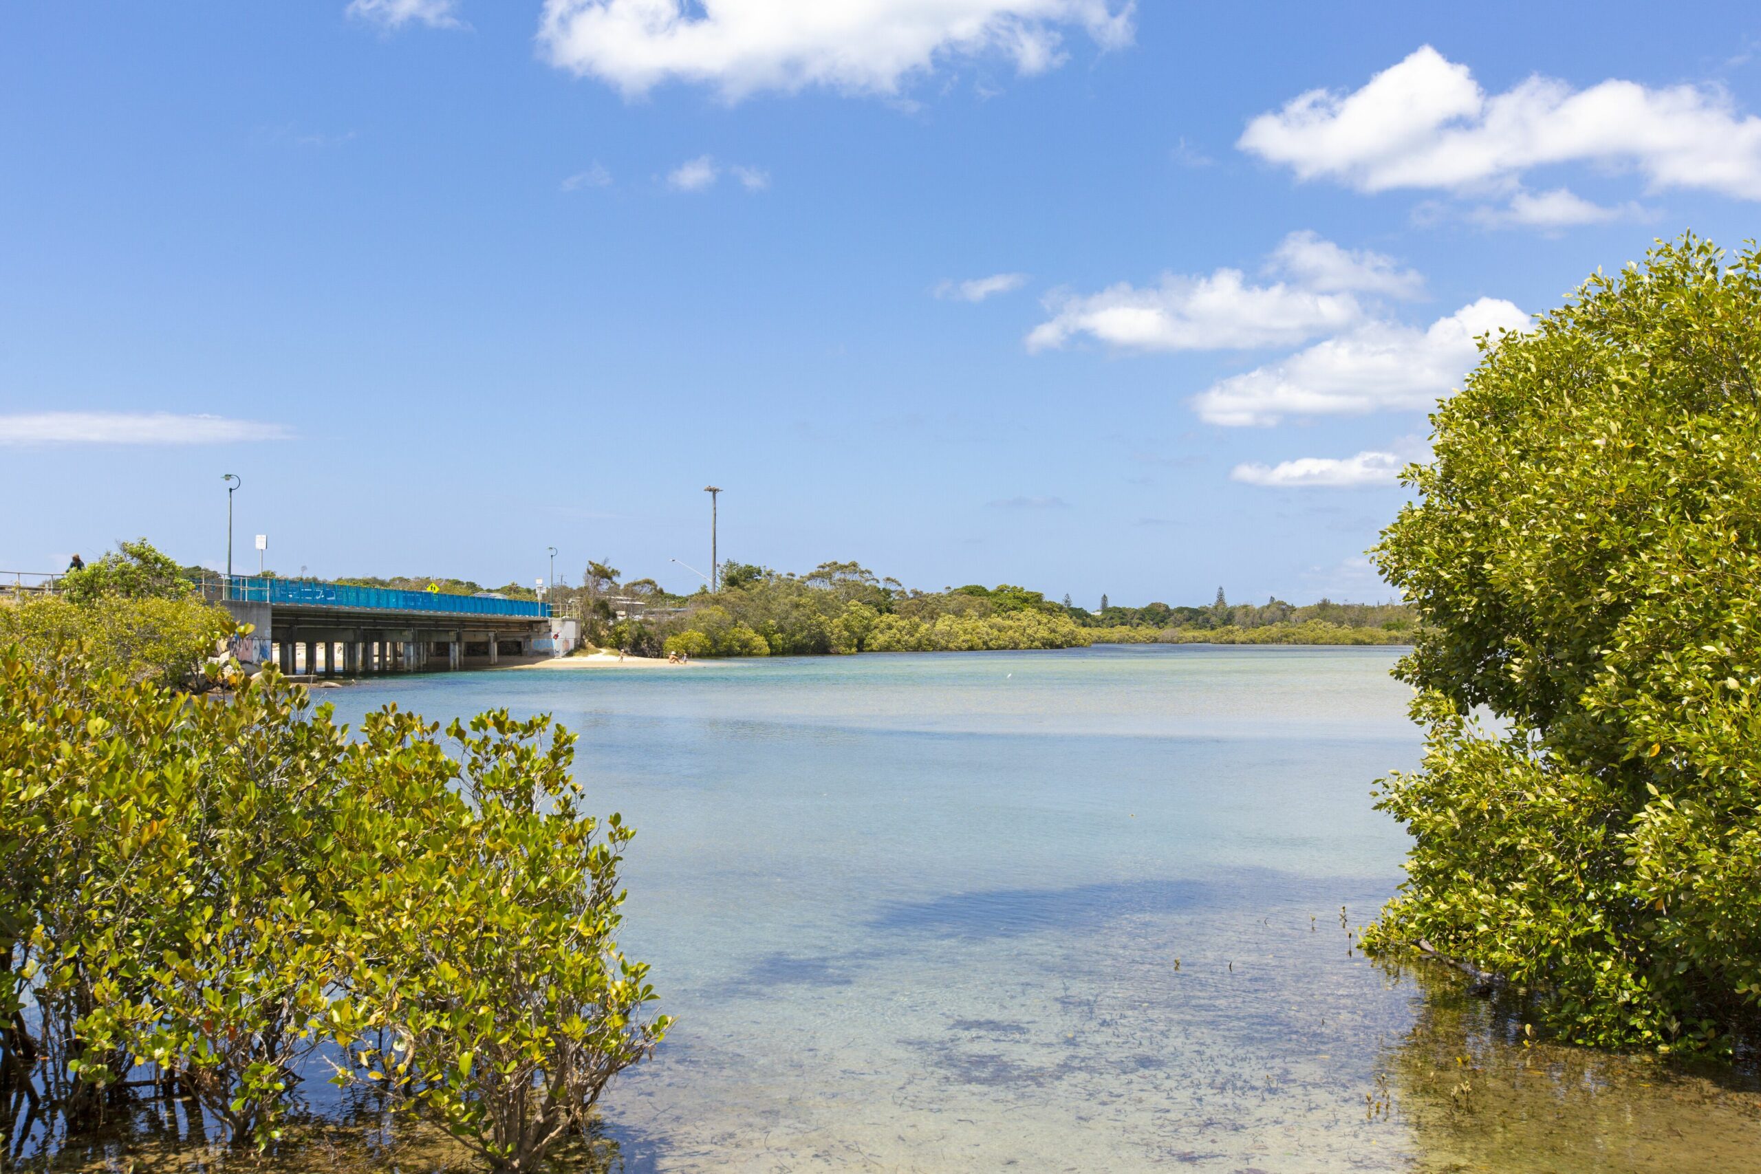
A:
[[[1761,209],[1752,5],[831,9],[7,5],[0,569],[1379,598],[1467,338]]]

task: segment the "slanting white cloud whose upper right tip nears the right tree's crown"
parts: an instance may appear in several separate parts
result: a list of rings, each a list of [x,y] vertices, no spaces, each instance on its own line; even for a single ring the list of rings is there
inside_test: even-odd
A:
[[[1507,301],[1481,297],[1428,329],[1367,322],[1278,363],[1233,375],[1192,400],[1212,424],[1277,424],[1286,415],[1425,408],[1477,363],[1474,338],[1527,329]]]

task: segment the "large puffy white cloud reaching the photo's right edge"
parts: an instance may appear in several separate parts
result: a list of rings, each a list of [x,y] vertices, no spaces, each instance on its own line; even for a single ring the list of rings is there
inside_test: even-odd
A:
[[[1363,192],[1511,188],[1530,167],[1631,167],[1655,188],[1761,199],[1761,118],[1722,90],[1550,77],[1486,95],[1430,46],[1352,93],[1310,90],[1249,121],[1243,151]]]

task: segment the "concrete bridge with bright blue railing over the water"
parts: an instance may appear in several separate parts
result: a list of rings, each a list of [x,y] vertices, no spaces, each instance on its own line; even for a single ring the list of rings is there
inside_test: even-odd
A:
[[[234,576],[208,584],[210,597],[252,634],[232,651],[245,664],[278,664],[287,674],[365,676],[475,669],[560,655],[574,641],[549,604],[493,595],[394,591],[310,579]]]

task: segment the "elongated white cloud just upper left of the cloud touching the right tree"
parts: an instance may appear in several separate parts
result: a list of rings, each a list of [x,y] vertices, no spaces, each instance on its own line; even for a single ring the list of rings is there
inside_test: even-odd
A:
[[[1099,294],[1055,294],[1051,320],[1027,336],[1028,350],[1088,334],[1129,350],[1234,350],[1287,347],[1359,317],[1351,294],[1323,294],[1277,282],[1250,285],[1240,269],[1210,276],[1164,275],[1160,285],[1120,283]]]

